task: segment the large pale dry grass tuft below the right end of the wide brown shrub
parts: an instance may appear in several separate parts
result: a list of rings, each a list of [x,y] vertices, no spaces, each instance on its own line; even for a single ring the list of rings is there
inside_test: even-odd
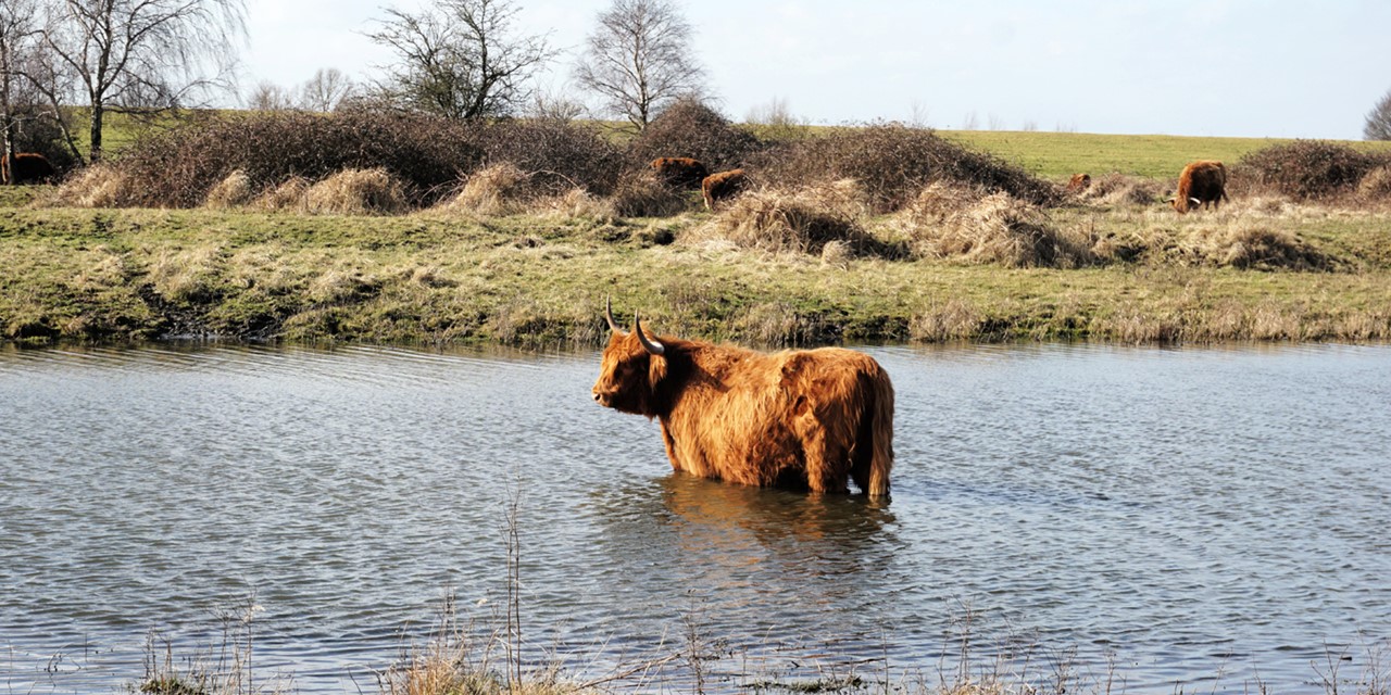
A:
[[[1091,240],[1054,229],[1043,210],[1008,193],[932,183],[903,217],[917,257],[1027,267],[1092,263]]]

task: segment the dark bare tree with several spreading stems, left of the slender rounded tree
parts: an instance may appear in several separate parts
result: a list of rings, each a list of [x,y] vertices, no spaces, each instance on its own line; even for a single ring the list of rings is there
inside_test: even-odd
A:
[[[510,0],[434,0],[419,14],[387,10],[367,38],[394,50],[377,96],[401,108],[447,118],[510,115],[552,51],[544,35],[515,36]]]

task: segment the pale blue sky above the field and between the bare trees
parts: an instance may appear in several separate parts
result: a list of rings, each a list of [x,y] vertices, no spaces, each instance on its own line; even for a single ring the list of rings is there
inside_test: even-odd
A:
[[[421,0],[249,0],[245,86],[389,56],[362,31]],[[566,53],[609,0],[519,0]],[[1391,1],[700,0],[682,3],[721,110],[772,99],[817,124],[1360,139],[1391,89]]]

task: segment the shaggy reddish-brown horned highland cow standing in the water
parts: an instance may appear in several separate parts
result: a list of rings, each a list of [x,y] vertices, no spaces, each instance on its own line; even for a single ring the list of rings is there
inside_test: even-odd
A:
[[[672,468],[811,492],[889,495],[893,384],[868,354],[840,348],[773,354],[650,338],[637,317],[612,335],[594,400],[657,418]]]

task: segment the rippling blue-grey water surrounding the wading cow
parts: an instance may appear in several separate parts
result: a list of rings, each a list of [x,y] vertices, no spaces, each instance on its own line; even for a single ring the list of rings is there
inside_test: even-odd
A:
[[[0,352],[0,687],[111,691],[255,603],[259,674],[376,691],[445,596],[495,626],[512,500],[527,656],[580,680],[696,635],[716,689],[935,682],[968,630],[1039,677],[1323,692],[1387,649],[1391,348],[869,352],[885,506],[672,475],[594,353]]]

